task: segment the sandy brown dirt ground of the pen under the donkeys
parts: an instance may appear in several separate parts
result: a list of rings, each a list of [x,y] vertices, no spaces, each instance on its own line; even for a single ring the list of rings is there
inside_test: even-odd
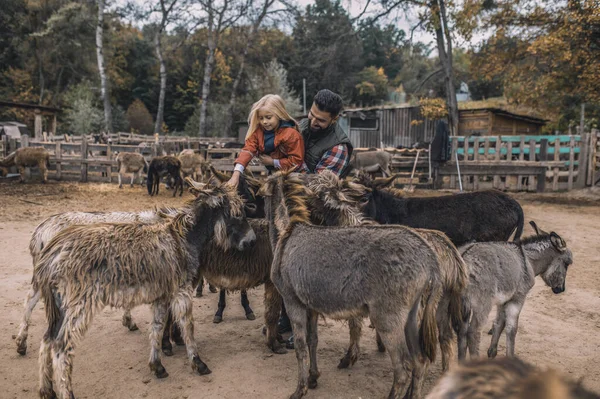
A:
[[[161,188],[162,189],[162,188]],[[415,195],[424,194],[416,192]],[[434,195],[431,192],[427,195]],[[31,233],[45,217],[65,211],[133,211],[154,205],[181,205],[191,195],[172,198],[163,190],[151,198],[141,187],[119,190],[109,184],[47,185],[0,183],[0,397],[37,397],[40,339],[45,330],[43,304],[34,310],[26,356],[15,350],[14,336],[29,289],[32,265],[28,252]],[[600,195],[585,190],[569,194],[518,194],[526,220],[555,230],[574,253],[567,290],[554,295],[541,279],[529,295],[521,315],[516,352],[541,367],[560,370],[600,392]],[[529,226],[526,234],[530,234]],[[208,291],[208,290],[205,290]],[[238,294],[228,296],[221,324],[213,324],[217,294],[196,298],[195,337],[202,359],[212,369],[208,376],[192,373],[183,347],[163,358],[169,377],[157,380],[150,372],[150,311],[134,309],[140,330],[121,326],[121,310],[105,309],[76,349],[74,391],[79,398],[284,398],[296,386],[296,358],[292,352],[273,355],[263,343],[262,288],[249,292],[255,321],[244,317]],[[319,387],[307,398],[382,398],[392,382],[386,354],[376,350],[374,333],[363,331],[362,355],[349,370],[337,362],[348,342],[347,326],[327,320],[319,326]],[[488,322],[489,327],[491,325]],[[487,331],[487,330],[486,330]],[[489,336],[482,339],[485,354]],[[504,352],[504,338],[499,353]],[[426,382],[429,391],[440,376],[439,360]]]

